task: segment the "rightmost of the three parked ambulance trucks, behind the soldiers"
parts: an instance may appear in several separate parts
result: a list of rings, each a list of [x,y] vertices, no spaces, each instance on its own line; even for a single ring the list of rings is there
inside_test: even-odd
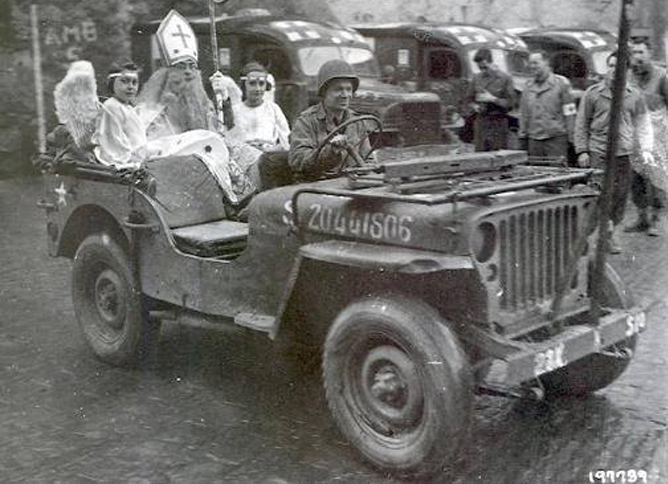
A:
[[[543,28],[516,33],[530,49],[548,53],[552,70],[571,81],[577,99],[603,79],[608,56],[617,49],[615,37],[605,31]]]

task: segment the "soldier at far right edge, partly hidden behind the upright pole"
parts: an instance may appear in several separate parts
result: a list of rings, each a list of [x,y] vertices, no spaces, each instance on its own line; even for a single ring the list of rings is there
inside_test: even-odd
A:
[[[645,97],[654,130],[654,166],[639,163],[635,167],[631,194],[638,207],[638,220],[624,230],[626,232],[646,232],[658,236],[658,211],[662,206],[660,187],[665,186],[668,168],[668,76],[666,70],[652,64],[646,43],[633,45],[631,67],[633,84]],[[659,183],[657,183],[657,181]],[[661,183],[663,182],[663,183]]]

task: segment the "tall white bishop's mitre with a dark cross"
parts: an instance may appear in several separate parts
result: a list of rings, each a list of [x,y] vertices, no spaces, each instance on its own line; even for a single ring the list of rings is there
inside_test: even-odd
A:
[[[192,60],[197,62],[197,37],[188,21],[171,10],[160,22],[156,33],[158,45],[167,65]]]

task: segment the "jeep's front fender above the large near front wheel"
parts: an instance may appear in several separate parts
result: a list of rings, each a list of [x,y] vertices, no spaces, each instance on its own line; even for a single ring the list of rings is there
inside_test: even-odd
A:
[[[291,327],[295,329],[292,320],[297,319],[301,320],[301,329],[292,336],[315,331],[317,334],[310,336],[318,341],[336,311],[352,299],[378,292],[419,292],[419,285],[429,285],[430,278],[446,273],[460,276],[466,273],[474,279],[473,260],[468,256],[353,241],[303,245],[290,273],[270,337],[275,339],[279,333]],[[306,326],[304,320],[308,320]]]

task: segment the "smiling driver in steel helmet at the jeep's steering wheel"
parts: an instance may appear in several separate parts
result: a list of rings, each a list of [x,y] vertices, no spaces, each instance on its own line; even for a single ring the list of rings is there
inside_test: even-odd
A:
[[[354,164],[347,148],[357,150],[362,158],[371,152],[367,127],[363,122],[349,124],[318,152],[318,147],[329,133],[355,117],[350,101],[359,82],[352,66],[345,61],[331,60],[320,67],[320,102],[299,115],[290,138],[289,164],[298,178],[318,180],[325,178],[328,172]]]

